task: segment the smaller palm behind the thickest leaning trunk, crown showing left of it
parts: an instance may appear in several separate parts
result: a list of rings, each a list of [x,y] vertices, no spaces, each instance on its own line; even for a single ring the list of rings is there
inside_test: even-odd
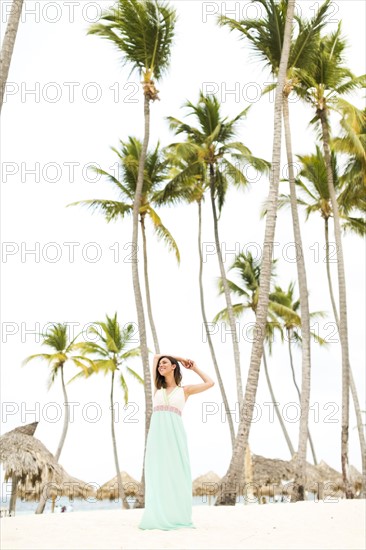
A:
[[[273,268],[276,260],[273,261]],[[256,315],[257,305],[258,305],[258,293],[259,293],[259,280],[260,280],[260,262],[255,260],[252,254],[249,252],[245,254],[244,252],[238,254],[230,267],[235,269],[240,277],[240,283],[235,283],[234,281],[228,280],[228,285],[230,291],[234,296],[237,296],[240,299],[240,302],[233,304],[233,311],[236,318],[240,318],[247,310],[251,310],[254,315]],[[274,270],[272,270],[272,276],[274,276]],[[219,293],[222,294],[223,282],[222,279],[219,279]],[[217,323],[219,320],[228,320],[228,311],[227,308],[222,309],[215,315],[214,322]],[[271,311],[271,302],[269,303],[268,310],[268,322],[266,325],[266,337],[265,342],[268,345],[269,353],[272,353],[272,342],[274,337],[274,332],[279,331],[282,337],[281,325],[277,322],[276,316]],[[265,349],[263,349],[263,365],[264,372],[266,376],[266,381],[268,385],[269,392],[271,394],[272,403],[276,412],[277,419],[280,423],[283,435],[285,437],[288,449],[290,451],[290,457],[294,455],[294,448],[290,439],[290,436],[287,432],[285,423],[283,421],[281,412],[278,408],[278,402],[275,398],[273,386],[268,371],[268,364]]]

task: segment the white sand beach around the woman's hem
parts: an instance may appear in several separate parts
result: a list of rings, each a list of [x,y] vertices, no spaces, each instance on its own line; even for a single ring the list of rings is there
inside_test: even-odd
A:
[[[365,548],[365,500],[235,507],[194,506],[197,529],[138,529],[143,510],[1,519],[2,550]]]

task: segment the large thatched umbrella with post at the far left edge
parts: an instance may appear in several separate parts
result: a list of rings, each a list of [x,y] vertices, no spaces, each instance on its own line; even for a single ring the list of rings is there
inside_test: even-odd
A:
[[[15,513],[19,481],[34,485],[62,478],[62,468],[54,456],[33,437],[37,424],[20,426],[0,437],[0,463],[4,465],[5,481],[12,481],[10,515]]]

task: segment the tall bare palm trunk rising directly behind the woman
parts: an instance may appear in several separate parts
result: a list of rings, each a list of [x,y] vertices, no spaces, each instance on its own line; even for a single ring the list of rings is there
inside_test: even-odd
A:
[[[149,352],[148,352],[147,339],[146,339],[145,313],[144,313],[144,308],[142,303],[142,294],[141,294],[141,287],[140,287],[140,281],[139,281],[138,258],[137,258],[138,246],[137,245],[138,245],[138,217],[139,217],[139,211],[141,206],[142,186],[144,182],[145,160],[146,160],[147,148],[149,145],[149,137],[150,137],[150,99],[146,93],[144,95],[144,119],[145,119],[144,141],[142,144],[141,156],[139,160],[139,169],[138,169],[138,175],[137,175],[137,184],[136,184],[135,198],[133,202],[133,215],[132,215],[132,218],[133,218],[132,246],[135,252],[135,257],[132,260],[132,281],[133,281],[133,290],[135,295],[137,322],[138,322],[139,336],[140,336],[139,339],[140,339],[142,366],[143,366],[144,382],[145,382],[144,383],[144,391],[145,391],[144,457],[145,457],[146,441],[147,441],[147,435],[149,432],[150,420],[152,415],[152,388],[151,388],[151,373],[149,368]],[[143,471],[142,471],[141,486],[140,486],[141,489],[138,495],[136,496],[135,508],[144,507],[144,502],[145,502],[144,463],[145,461],[143,461]]]

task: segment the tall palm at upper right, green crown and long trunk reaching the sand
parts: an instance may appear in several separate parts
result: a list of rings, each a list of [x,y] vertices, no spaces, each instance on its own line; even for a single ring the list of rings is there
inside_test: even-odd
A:
[[[356,77],[345,66],[345,40],[341,37],[341,23],[337,30],[322,37],[318,42],[318,55],[315,63],[307,70],[299,71],[297,92],[309,103],[315,116],[312,122],[320,126],[324,149],[325,164],[330,201],[333,210],[334,235],[337,246],[337,271],[339,289],[339,333],[342,348],[342,432],[341,464],[343,482],[347,498],[353,493],[348,480],[348,430],[349,430],[349,342],[347,320],[346,278],[344,268],[343,246],[341,238],[340,215],[333,181],[330,150],[330,110],[339,108],[339,98],[362,86],[365,77]]]

